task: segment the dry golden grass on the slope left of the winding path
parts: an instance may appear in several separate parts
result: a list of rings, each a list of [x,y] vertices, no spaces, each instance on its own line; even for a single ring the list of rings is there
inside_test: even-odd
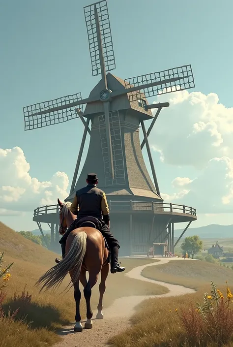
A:
[[[1,347],[16,346],[14,344],[14,339],[15,341],[17,340],[17,347],[44,347],[56,342],[58,337],[54,331],[62,325],[74,320],[75,301],[73,298],[73,290],[70,290],[65,295],[59,294],[65,289],[70,278],[67,276],[64,284],[62,284],[57,291],[48,291],[46,294],[43,292],[39,294],[39,289],[34,287],[34,284],[44,272],[55,265],[54,260],[58,254],[32,243],[1,222],[0,252],[4,252],[4,260],[7,263],[14,262],[11,271],[11,280],[7,287],[5,310],[7,311],[8,307],[10,307],[11,310],[19,307],[20,310],[17,317],[19,320],[24,319],[23,322],[9,322],[11,325],[11,328],[9,328],[11,329],[10,336],[9,334],[5,334],[5,331],[8,331],[8,328],[4,326],[6,321],[4,324],[0,323],[0,336],[5,336],[5,345],[1,345]],[[121,259],[122,264],[126,267],[126,271],[130,271],[136,266],[151,263],[152,261],[156,261],[156,259]],[[21,299],[13,300],[15,291],[17,294],[21,295],[25,286],[26,291],[29,291],[29,294],[32,295],[32,300],[27,305],[25,305]],[[115,299],[121,296],[154,295],[166,293],[167,291],[167,288],[164,286],[133,280],[124,276],[123,273],[116,275],[109,274],[106,282],[104,307],[111,305]],[[96,284],[92,290],[91,296],[91,305],[93,309],[96,309],[98,299],[98,284]],[[81,315],[83,318],[86,317],[85,313],[86,304],[82,297]],[[30,323],[29,329],[27,329],[28,323]],[[25,329],[27,329],[27,334],[23,333],[26,331]],[[16,332],[17,336],[14,337]],[[21,332],[24,334],[24,337],[21,337]]]

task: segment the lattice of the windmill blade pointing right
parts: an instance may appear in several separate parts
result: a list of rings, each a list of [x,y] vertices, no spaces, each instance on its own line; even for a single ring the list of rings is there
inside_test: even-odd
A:
[[[153,82],[161,82],[172,78],[179,78],[174,82],[164,82],[158,86],[143,87],[143,85]],[[141,86],[138,91],[129,92],[129,100],[135,101],[144,97],[167,94],[185,89],[194,88],[194,77],[191,65],[183,65],[169,70],[148,73],[124,80],[126,90],[131,87]]]

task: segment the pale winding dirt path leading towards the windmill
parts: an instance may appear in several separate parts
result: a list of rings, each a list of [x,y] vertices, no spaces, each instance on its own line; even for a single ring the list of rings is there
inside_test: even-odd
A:
[[[54,347],[105,347],[108,339],[111,336],[114,336],[129,327],[128,318],[135,313],[135,307],[142,301],[148,298],[177,296],[194,293],[195,291],[193,289],[185,288],[182,285],[167,284],[164,282],[154,281],[147,279],[141,275],[141,272],[146,266],[161,265],[169,261],[179,259],[182,260],[182,258],[161,258],[159,259],[159,262],[152,262],[150,264],[138,266],[125,274],[125,276],[136,280],[164,285],[170,290],[169,293],[153,296],[141,295],[119,298],[115,300],[110,307],[103,310],[103,320],[92,319],[92,329],[84,329],[82,333],[74,333],[74,323],[70,326],[64,327],[60,332],[60,335],[63,336],[62,341],[60,341]],[[96,311],[94,311],[93,313],[93,317],[95,317]]]

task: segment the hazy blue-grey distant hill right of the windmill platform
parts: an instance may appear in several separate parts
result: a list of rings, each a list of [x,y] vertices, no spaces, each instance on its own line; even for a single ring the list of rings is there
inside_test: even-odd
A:
[[[178,237],[183,229],[175,230],[175,236]],[[210,224],[200,226],[199,228],[188,228],[183,237],[198,235],[202,239],[226,239],[233,238],[233,225]]]

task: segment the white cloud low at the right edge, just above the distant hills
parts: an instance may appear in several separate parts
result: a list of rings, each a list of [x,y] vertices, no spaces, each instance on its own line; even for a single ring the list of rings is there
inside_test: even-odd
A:
[[[233,212],[233,160],[228,157],[212,158],[199,177],[176,177],[172,186],[173,194],[163,194],[166,202],[176,200],[193,206],[198,213]]]

